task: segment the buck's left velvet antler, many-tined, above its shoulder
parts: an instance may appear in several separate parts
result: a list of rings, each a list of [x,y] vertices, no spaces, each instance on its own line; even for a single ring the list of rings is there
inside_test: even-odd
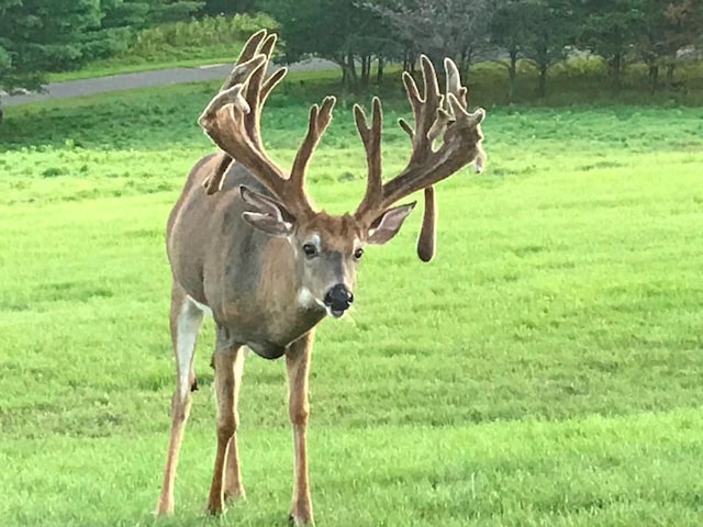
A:
[[[332,119],[334,97],[327,97],[322,106],[310,109],[308,134],[298,150],[290,177],[274,162],[261,143],[261,110],[271,90],[288,72],[281,68],[265,79],[276,35],[261,30],[247,41],[230,77],[220,92],[210,101],[198,123],[205,134],[227,156],[244,165],[278,200],[297,214],[312,213],[305,195],[305,169],[312,154]],[[220,164],[210,181],[208,193],[216,192],[228,162]]]

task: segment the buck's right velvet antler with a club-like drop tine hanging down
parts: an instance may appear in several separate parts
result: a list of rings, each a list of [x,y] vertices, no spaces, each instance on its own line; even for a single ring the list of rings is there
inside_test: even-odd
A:
[[[382,183],[380,136],[382,126],[381,103],[373,99],[371,125],[367,125],[364,111],[355,105],[356,124],[366,148],[369,167],[366,194],[355,215],[370,225],[386,209],[419,190],[425,190],[425,216],[417,245],[421,259],[428,261],[434,255],[436,203],[433,186],[448,178],[470,162],[481,171],[486,154],[481,147],[483,135],[480,124],[486,111],[467,111],[467,89],[461,86],[459,71],[449,58],[444,66],[447,74],[446,96],[439,93],[437,75],[426,56],[421,56],[423,96],[412,76],[403,74],[403,83],[413,109],[415,128],[404,120],[399,124],[410,135],[412,153],[405,169],[395,178]],[[444,131],[443,143],[437,150],[434,141]]]

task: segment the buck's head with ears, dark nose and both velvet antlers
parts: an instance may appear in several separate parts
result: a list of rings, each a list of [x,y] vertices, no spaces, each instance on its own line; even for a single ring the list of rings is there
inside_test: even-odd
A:
[[[357,130],[366,149],[368,182],[366,193],[353,214],[333,216],[316,211],[305,193],[305,172],[312,154],[332,119],[333,97],[310,110],[308,133],[298,150],[290,175],[266,154],[260,136],[264,103],[286,76],[286,68],[266,78],[276,35],[260,31],[245,45],[232,74],[208,104],[199,124],[231,158],[236,159],[270,192],[264,194],[242,187],[249,210],[243,218],[270,236],[286,238],[295,260],[299,301],[305,307],[342,316],[354,301],[359,260],[367,244],[384,244],[400,231],[415,202],[395,205],[403,198],[425,190],[427,206],[419,242],[419,254],[428,260],[434,254],[435,203],[433,186],[476,162],[480,170],[484,154],[480,123],[486,112],[467,111],[467,89],[458,70],[445,59],[446,94],[439,92],[432,63],[421,57],[422,94],[409,74],[403,82],[414,113],[414,128],[401,126],[411,137],[412,152],[405,169],[387,182],[381,178],[382,111],[372,101],[370,124],[359,105],[354,106]],[[433,145],[440,139],[437,148]],[[215,192],[224,170],[207,182]]]

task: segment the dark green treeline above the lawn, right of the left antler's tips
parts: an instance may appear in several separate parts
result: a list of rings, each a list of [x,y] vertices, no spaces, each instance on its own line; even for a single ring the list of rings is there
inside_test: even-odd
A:
[[[549,67],[579,53],[602,57],[615,89],[628,63],[644,61],[655,91],[671,85],[681,60],[699,58],[703,34],[703,0],[260,0],[257,7],[279,22],[289,59],[334,60],[349,85],[369,83],[372,69],[381,80],[389,60],[412,69],[422,52],[436,63],[455,58],[465,74],[478,60],[500,59],[509,97],[518,59],[536,66],[544,96]]]

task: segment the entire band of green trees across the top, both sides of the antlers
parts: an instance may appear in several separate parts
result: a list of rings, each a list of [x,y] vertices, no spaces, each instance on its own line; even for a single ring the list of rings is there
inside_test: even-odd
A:
[[[242,12],[276,22],[230,21]],[[412,70],[425,53],[437,64],[453,57],[466,78],[472,64],[495,60],[511,100],[520,60],[537,69],[542,96],[550,67],[578,54],[602,57],[614,89],[627,65],[645,64],[656,91],[703,48],[703,0],[0,0],[0,88],[38,87],[46,72],[148,55],[163,42],[222,42],[263,20],[278,25],[283,58],[333,60],[348,87],[381,82],[389,63]]]

